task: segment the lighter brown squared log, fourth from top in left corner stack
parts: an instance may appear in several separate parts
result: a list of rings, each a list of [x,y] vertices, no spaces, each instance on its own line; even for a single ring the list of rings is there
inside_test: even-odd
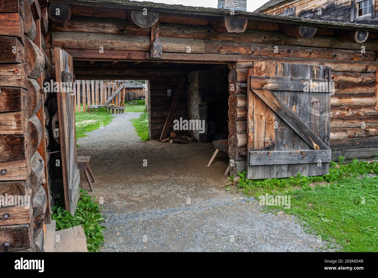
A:
[[[27,89],[26,64],[0,64],[0,84]]]

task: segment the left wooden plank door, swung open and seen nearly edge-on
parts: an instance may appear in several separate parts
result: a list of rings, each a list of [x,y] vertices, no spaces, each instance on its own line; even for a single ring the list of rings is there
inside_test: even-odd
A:
[[[62,155],[62,171],[65,208],[75,214],[79,200],[80,174],[77,168],[76,130],[75,130],[75,94],[70,89],[74,83],[72,56],[59,47],[54,48],[55,76],[59,84],[57,92],[59,140]]]

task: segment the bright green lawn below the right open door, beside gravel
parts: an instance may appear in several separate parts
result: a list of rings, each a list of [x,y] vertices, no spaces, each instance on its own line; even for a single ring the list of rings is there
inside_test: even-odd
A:
[[[372,174],[371,177],[368,174]],[[239,187],[246,196],[290,196],[290,208],[266,206],[301,219],[307,232],[321,236],[329,247],[344,252],[378,252],[378,162],[331,163],[319,177],[247,180]]]

